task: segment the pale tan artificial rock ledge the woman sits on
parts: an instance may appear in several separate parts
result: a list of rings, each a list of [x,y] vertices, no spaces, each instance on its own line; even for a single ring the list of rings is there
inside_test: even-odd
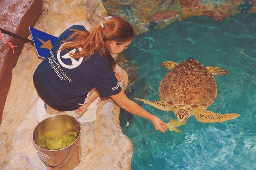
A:
[[[90,30],[108,17],[102,1],[66,1],[68,5],[45,0],[45,10],[34,28],[57,37],[71,25],[84,25]],[[33,130],[38,124],[39,98],[32,76],[41,61],[34,47],[25,44],[12,70],[12,83],[0,125],[0,155],[4,155],[0,156],[0,169],[48,169],[39,159],[32,141]],[[123,74],[121,86],[125,89],[128,76],[117,67]],[[120,108],[111,99],[99,100],[96,120],[81,125],[82,159],[75,169],[131,169],[133,146],[122,133],[119,112]]]

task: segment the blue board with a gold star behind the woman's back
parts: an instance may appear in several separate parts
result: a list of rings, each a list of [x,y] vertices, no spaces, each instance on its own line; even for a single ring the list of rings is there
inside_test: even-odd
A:
[[[42,32],[33,27],[29,27],[29,31],[34,42],[37,55],[45,58],[49,54],[58,37]]]

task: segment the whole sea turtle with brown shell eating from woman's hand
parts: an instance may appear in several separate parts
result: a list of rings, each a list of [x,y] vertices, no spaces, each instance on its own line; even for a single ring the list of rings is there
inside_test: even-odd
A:
[[[137,99],[163,111],[172,111],[179,122],[194,115],[202,123],[223,122],[235,119],[239,114],[217,114],[206,111],[216,95],[217,85],[213,75],[224,75],[228,71],[219,67],[204,67],[200,62],[189,58],[179,64],[166,61],[160,64],[169,69],[159,86],[161,101],[151,102]]]

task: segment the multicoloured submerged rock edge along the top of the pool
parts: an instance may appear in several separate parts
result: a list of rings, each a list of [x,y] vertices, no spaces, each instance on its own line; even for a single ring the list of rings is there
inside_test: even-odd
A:
[[[256,3],[250,0],[103,0],[109,15],[131,22],[136,32],[164,28],[190,16],[208,16],[222,21],[243,12],[256,12]]]

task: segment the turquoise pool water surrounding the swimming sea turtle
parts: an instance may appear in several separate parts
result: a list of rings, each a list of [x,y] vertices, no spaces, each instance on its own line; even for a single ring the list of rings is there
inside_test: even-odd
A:
[[[237,14],[222,22],[190,17],[138,35],[123,54],[138,66],[129,98],[158,101],[160,81],[168,72],[160,63],[195,58],[229,71],[215,76],[218,94],[207,110],[241,114],[210,124],[190,117],[178,127],[180,133],[161,133],[151,122],[121,110],[121,127],[134,145],[133,170],[256,169],[256,14]],[[165,122],[176,119],[172,112],[135,102]]]

